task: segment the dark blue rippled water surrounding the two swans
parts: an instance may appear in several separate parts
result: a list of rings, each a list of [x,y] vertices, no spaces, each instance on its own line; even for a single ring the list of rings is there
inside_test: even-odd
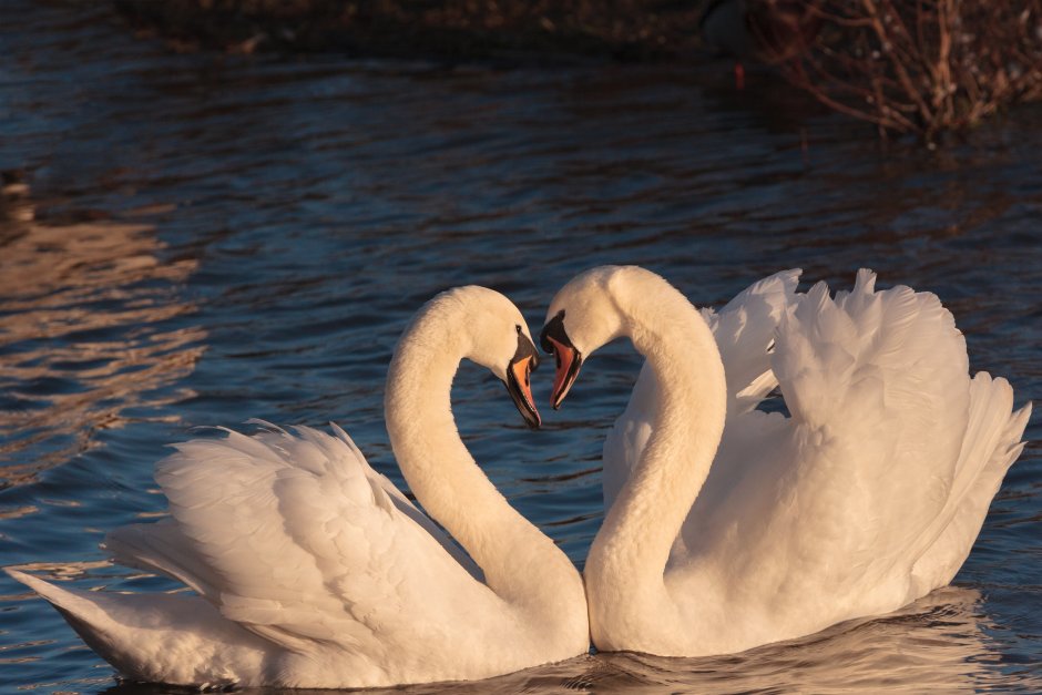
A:
[[[595,264],[645,265],[709,305],[786,267],[844,286],[868,266],[936,292],[974,369],[1008,376],[1018,402],[1042,396],[1038,108],[936,152],[883,150],[782,86],[736,92],[726,65],[178,55],[92,3],[29,0],[0,8],[0,168],[30,186],[0,222],[0,565],[170,589],[96,545],[162,514],[152,466],[195,426],[336,420],[400,480],[385,369],[407,318],[460,284],[507,293],[538,328]],[[580,564],[601,439],[639,367],[623,347],[596,361],[539,433],[481,370],[454,389],[476,458]],[[540,402],[549,386],[540,371]],[[956,585],[898,614],[737,656],[599,655],[449,689],[1038,692],[1040,509],[1032,443]],[[116,687],[0,578],[0,688],[110,687],[163,691]]]

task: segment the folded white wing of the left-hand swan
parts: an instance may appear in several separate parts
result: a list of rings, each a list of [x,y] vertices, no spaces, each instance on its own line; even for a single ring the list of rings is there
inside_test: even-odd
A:
[[[385,654],[437,638],[461,614],[496,614],[498,597],[460,551],[337,435],[228,431],[178,444],[156,467],[172,519],[118,530],[106,545],[296,652]]]

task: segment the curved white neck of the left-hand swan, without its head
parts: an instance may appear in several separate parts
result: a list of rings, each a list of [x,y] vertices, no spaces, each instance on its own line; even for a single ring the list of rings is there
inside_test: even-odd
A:
[[[585,605],[574,565],[478,468],[456,428],[452,379],[468,346],[462,320],[425,311],[402,336],[387,377],[395,457],[431,518],[470,553],[507,602],[555,617]],[[583,621],[585,610],[582,609]]]

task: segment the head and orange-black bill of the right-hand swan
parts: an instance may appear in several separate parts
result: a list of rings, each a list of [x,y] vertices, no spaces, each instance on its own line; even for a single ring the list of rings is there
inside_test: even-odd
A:
[[[623,335],[620,282],[648,273],[635,266],[601,266],[572,278],[558,292],[539,341],[556,359],[550,405],[556,410],[579,376],[583,358]]]

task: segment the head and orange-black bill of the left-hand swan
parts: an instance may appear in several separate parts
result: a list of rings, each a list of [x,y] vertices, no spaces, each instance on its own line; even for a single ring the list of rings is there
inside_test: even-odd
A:
[[[521,311],[500,293],[477,285],[451,289],[445,296],[458,300],[466,317],[464,357],[499,377],[524,422],[539,428],[531,382],[539,350]]]

